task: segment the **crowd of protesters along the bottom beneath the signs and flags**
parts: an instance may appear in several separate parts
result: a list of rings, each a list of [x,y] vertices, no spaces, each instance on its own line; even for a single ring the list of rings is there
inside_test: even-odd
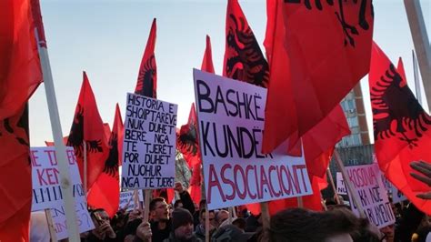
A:
[[[422,169],[421,173],[425,175],[421,180],[431,186],[431,166],[426,164],[426,169]],[[81,241],[195,242],[205,241],[206,236],[213,242],[431,241],[431,216],[419,211],[408,201],[393,204],[396,223],[380,229],[366,218],[356,217],[351,208],[342,203],[343,199],[332,197],[326,198],[322,204],[323,211],[299,207],[279,211],[270,217],[268,226],[264,228],[262,215],[251,214],[246,206],[206,212],[206,201],[202,200],[196,205],[180,183],[175,185],[175,191],[178,197],[173,204],[166,203],[164,197],[151,200],[149,222],[145,222],[144,211],[139,208],[131,211],[120,209],[112,218],[102,208],[90,210],[95,229],[82,233]],[[429,193],[418,196],[429,199]],[[341,201],[341,204],[336,201]],[[235,211],[235,214],[229,211]],[[209,220],[207,233],[206,216]]]

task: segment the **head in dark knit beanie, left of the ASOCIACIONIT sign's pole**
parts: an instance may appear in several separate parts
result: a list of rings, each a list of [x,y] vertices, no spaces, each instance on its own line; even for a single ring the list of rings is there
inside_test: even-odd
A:
[[[193,237],[193,216],[187,209],[176,208],[172,213],[172,229],[177,240]]]

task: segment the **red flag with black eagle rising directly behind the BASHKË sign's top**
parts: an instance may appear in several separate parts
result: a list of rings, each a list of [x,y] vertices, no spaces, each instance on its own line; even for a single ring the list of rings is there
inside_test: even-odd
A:
[[[237,0],[227,2],[223,76],[267,86],[268,64]]]

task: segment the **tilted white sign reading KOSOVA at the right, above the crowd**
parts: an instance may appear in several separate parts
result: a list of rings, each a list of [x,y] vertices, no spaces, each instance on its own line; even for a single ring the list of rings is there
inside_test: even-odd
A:
[[[378,165],[346,166],[346,173],[368,220],[379,228],[395,224],[396,217],[387,198]],[[349,198],[352,201],[350,193]],[[359,215],[356,206],[352,208],[356,215]]]

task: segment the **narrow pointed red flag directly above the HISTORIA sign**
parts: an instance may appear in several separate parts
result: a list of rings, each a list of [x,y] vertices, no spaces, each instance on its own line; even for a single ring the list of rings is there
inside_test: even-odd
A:
[[[139,75],[135,87],[135,94],[156,98],[157,66],[155,65],[155,19],[151,25],[150,35],[146,41],[144,56],[142,57]]]

